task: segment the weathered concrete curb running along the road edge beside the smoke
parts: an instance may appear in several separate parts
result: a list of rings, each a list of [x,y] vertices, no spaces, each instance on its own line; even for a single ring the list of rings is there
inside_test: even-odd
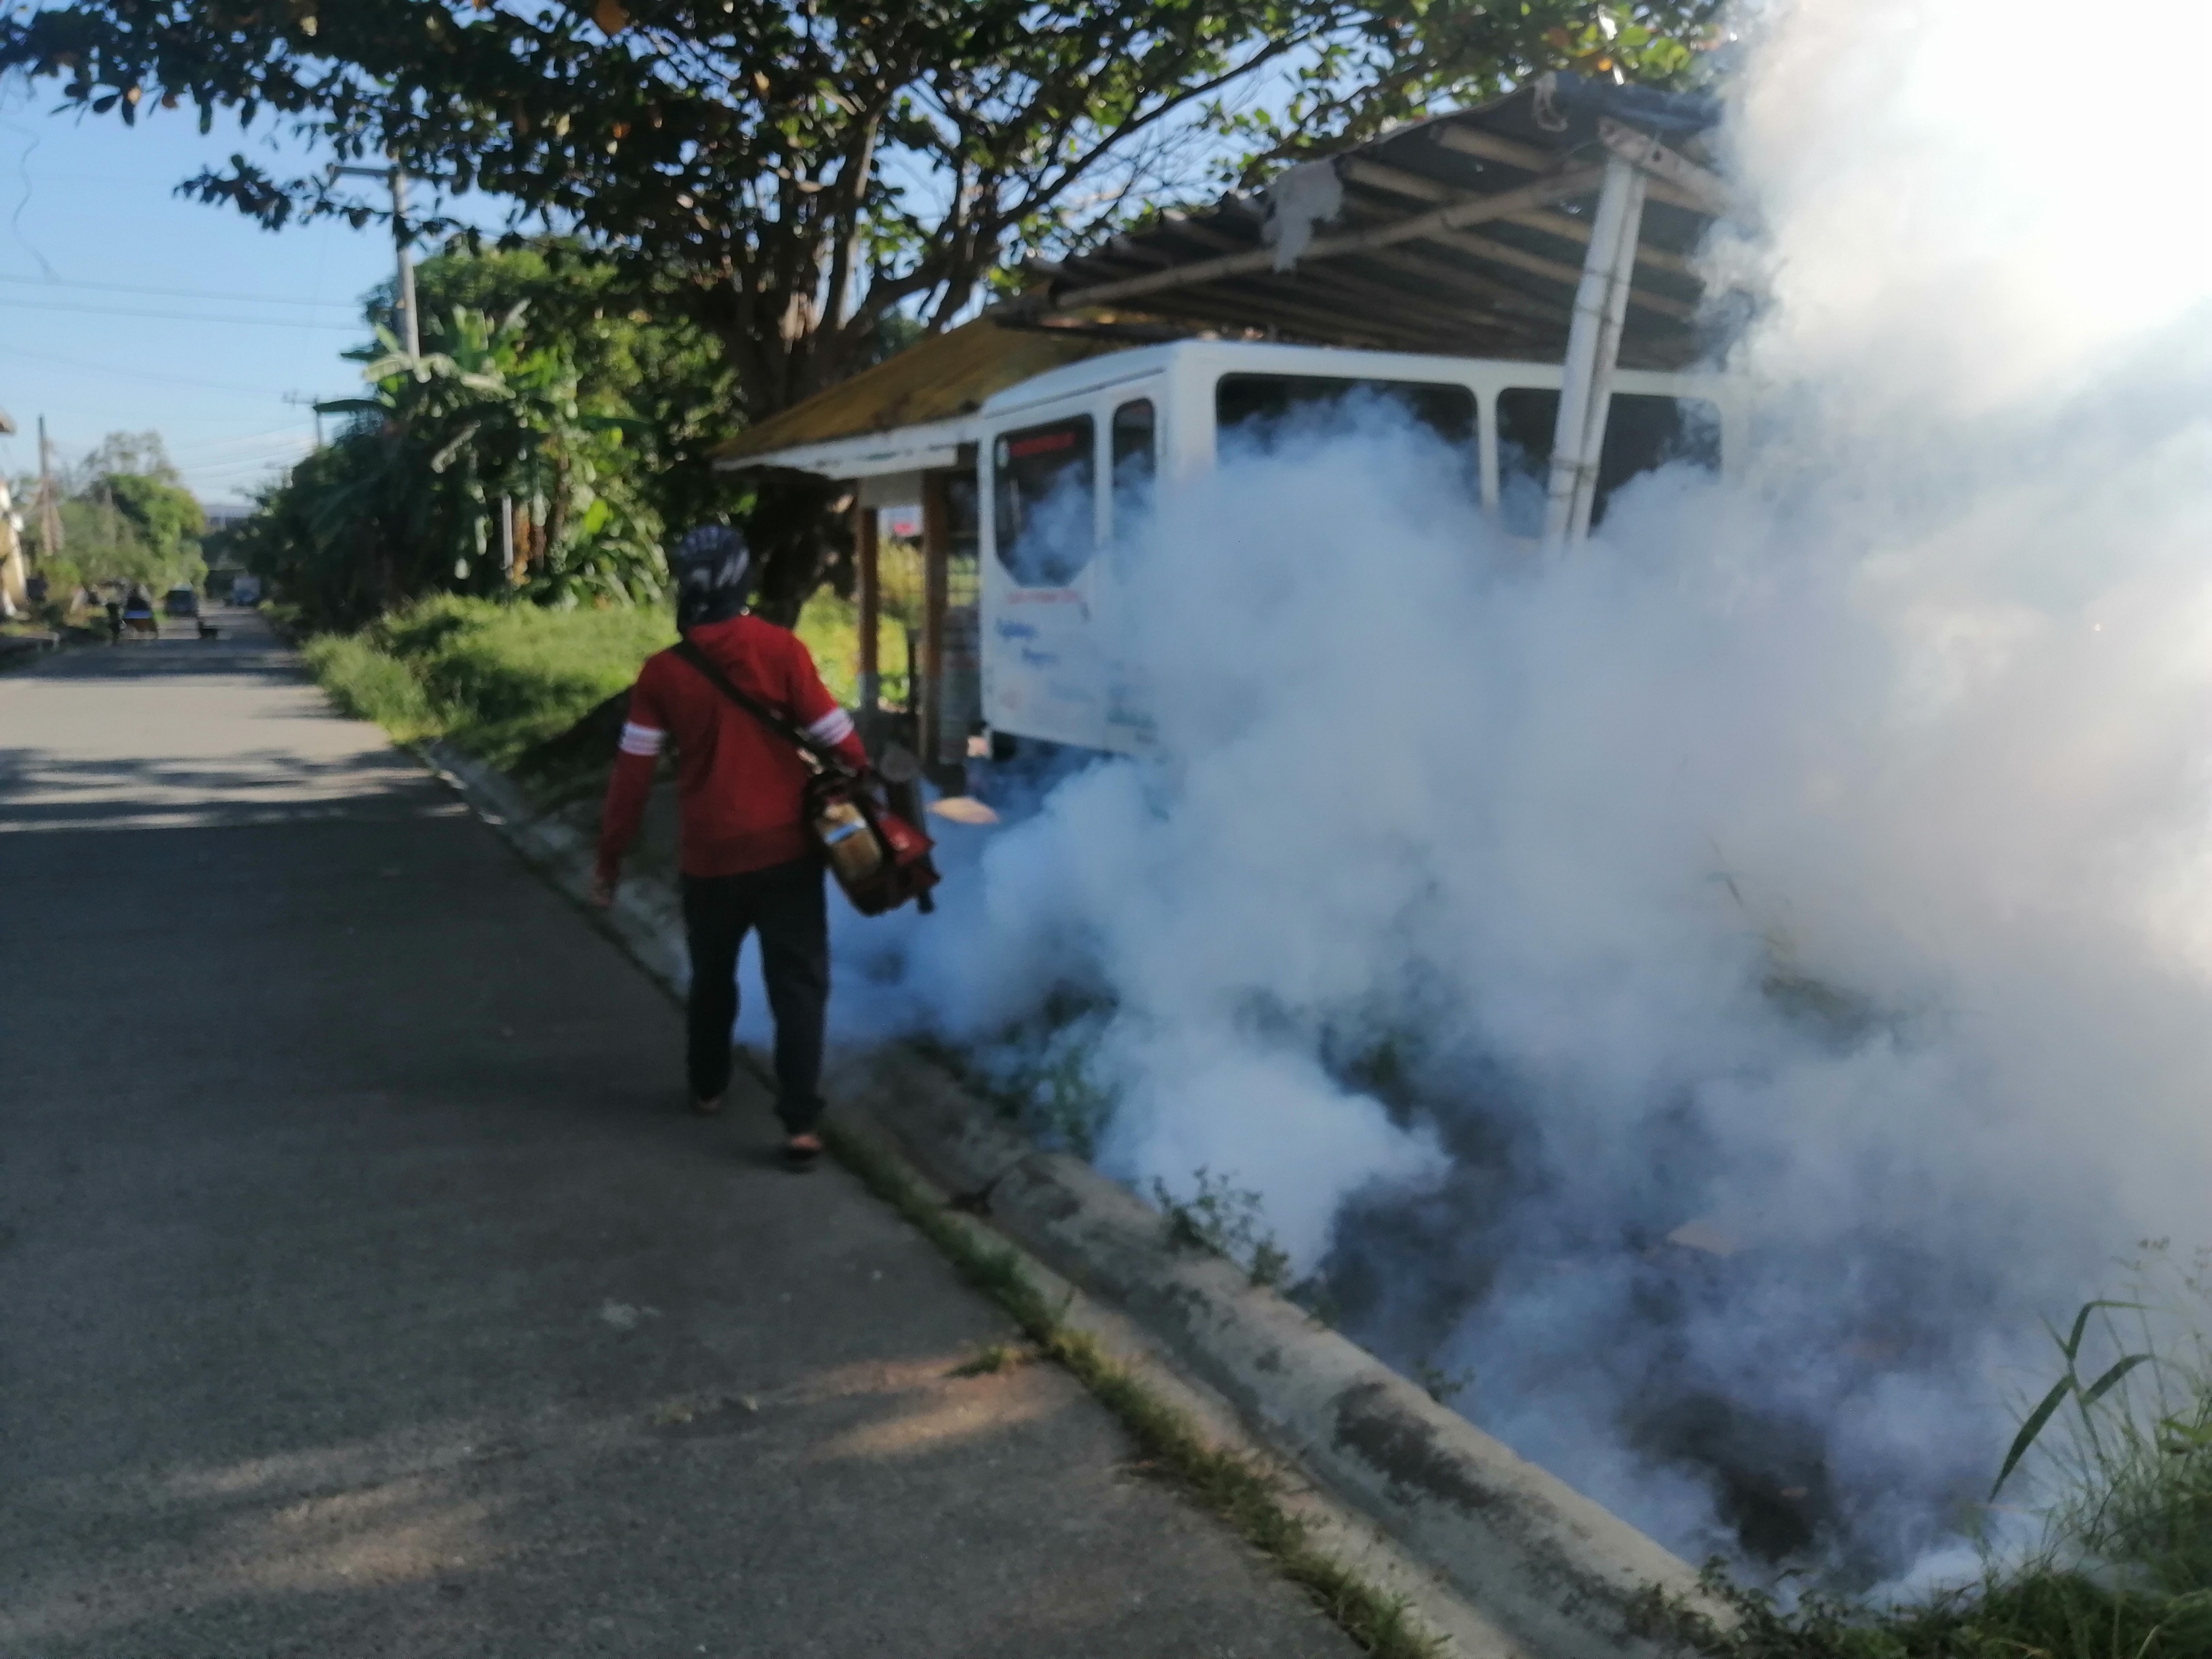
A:
[[[538,816],[482,761],[442,743],[425,754],[557,887],[586,894],[593,849],[582,834]],[[657,980],[684,989],[681,916],[661,883],[626,880],[602,916]],[[1679,1557],[1234,1263],[1172,1245],[1157,1210],[1075,1157],[1040,1152],[936,1062],[902,1046],[849,1053],[830,1084],[929,1181],[1121,1310],[1265,1447],[1433,1571],[1449,1601],[1464,1604],[1433,1619],[1455,1628],[1460,1652],[1659,1659],[1674,1644],[1644,1635],[1635,1617],[1652,1590],[1723,1628],[1734,1621]]]

